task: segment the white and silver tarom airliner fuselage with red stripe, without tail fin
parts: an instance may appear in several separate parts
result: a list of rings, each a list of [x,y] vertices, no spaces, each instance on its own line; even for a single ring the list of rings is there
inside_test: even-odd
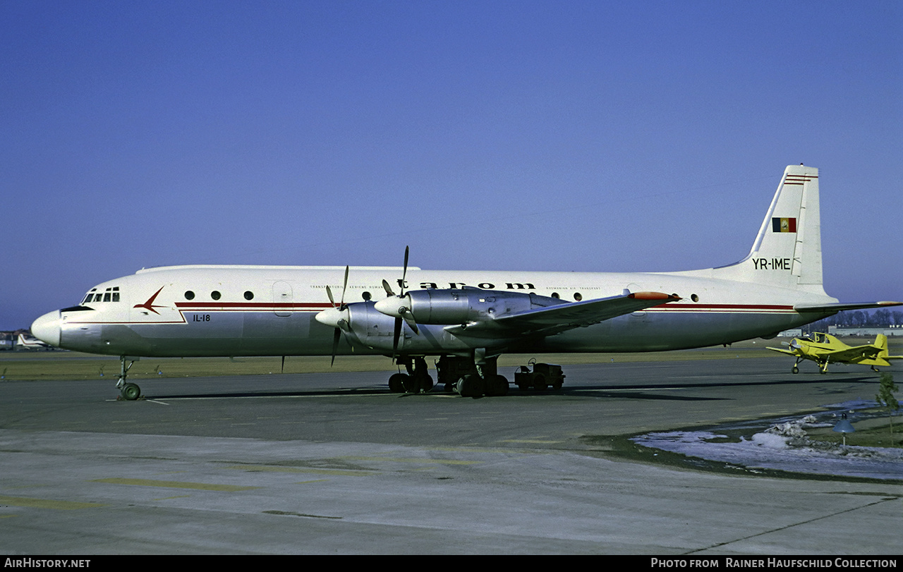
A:
[[[753,261],[747,261],[750,266]],[[140,356],[330,355],[332,328],[314,316],[332,306],[326,286],[341,295],[344,267],[173,266],[107,281],[80,306],[51,312],[54,345],[97,354]],[[533,291],[562,300],[605,298],[629,291],[674,293],[682,300],[538,339],[500,340],[507,352],[658,351],[729,344],[820,318],[800,302],[834,300],[824,294],[713,279],[712,271],[673,273],[454,272],[409,268],[408,290],[473,286],[487,291]],[[382,281],[398,291],[401,268],[349,271],[345,302],[385,299]],[[98,296],[117,292],[116,297]],[[99,300],[95,300],[98,298]],[[114,301],[117,298],[117,301]],[[337,300],[338,301],[338,300]],[[372,315],[372,316],[371,316]],[[46,318],[46,319],[45,319]],[[339,354],[392,353],[393,319],[368,314],[366,336]],[[40,327],[39,327],[40,328]],[[363,329],[363,328],[362,328]],[[489,345],[453,337],[442,326],[414,334],[405,325],[399,350],[407,354],[466,353]]]

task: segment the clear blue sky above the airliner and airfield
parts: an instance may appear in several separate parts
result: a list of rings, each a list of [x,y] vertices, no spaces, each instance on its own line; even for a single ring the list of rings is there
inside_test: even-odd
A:
[[[655,272],[818,167],[903,299],[898,2],[0,3],[0,329],[182,263]]]

